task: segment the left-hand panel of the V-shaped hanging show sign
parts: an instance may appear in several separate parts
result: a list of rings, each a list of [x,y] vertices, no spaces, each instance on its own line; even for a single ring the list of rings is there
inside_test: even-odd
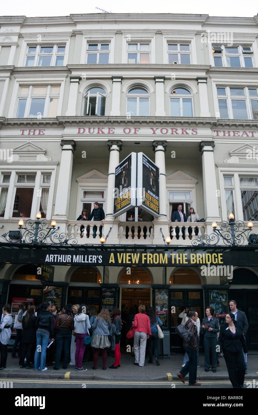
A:
[[[136,153],[129,154],[116,166],[113,198],[115,217],[136,205]]]

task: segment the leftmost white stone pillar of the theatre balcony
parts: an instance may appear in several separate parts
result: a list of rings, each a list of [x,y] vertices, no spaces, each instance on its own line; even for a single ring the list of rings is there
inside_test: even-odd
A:
[[[65,223],[68,220],[72,178],[72,158],[76,144],[74,140],[61,140],[60,146],[62,147],[62,156],[55,196],[55,212],[53,216],[53,219],[55,219],[56,222],[59,222],[57,224],[58,226],[60,226],[60,221]]]

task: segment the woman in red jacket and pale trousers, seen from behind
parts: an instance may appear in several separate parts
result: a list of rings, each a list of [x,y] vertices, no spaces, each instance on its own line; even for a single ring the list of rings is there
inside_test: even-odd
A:
[[[152,332],[150,330],[149,317],[145,314],[145,305],[140,305],[139,313],[135,314],[133,328],[135,331],[133,348],[135,365],[144,366],[146,342]]]

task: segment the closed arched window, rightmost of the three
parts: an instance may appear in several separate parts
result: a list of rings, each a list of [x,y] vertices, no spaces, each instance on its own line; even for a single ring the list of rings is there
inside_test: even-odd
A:
[[[170,92],[171,117],[193,117],[193,97],[188,89],[178,87]]]

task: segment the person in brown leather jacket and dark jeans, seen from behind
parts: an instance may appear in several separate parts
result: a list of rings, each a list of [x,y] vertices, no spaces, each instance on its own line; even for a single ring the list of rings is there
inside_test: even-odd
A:
[[[55,322],[55,339],[56,339],[56,355],[55,366],[53,369],[58,370],[60,365],[61,353],[64,347],[64,362],[63,369],[67,368],[69,359],[69,350],[72,337],[72,330],[74,329],[74,320],[72,316],[72,308],[66,304],[63,307],[62,314],[60,314]]]

